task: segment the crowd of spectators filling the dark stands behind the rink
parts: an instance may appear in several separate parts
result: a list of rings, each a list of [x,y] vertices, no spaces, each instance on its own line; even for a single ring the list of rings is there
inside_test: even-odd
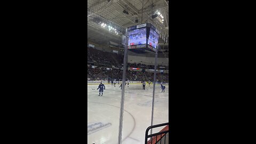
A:
[[[88,49],[87,51],[87,77],[91,80],[109,80],[122,79],[123,76],[123,56],[121,54],[103,52],[96,49]],[[90,63],[90,64],[89,64]],[[92,64],[93,63],[93,64]],[[94,68],[92,66],[95,66]],[[113,68],[114,66],[115,68]],[[154,69],[154,65],[145,65],[142,63],[127,63],[127,67],[140,69]],[[165,68],[159,68],[165,67]],[[107,68],[109,68],[107,70]],[[157,69],[168,69],[166,66],[158,65]],[[126,78],[130,81],[153,81],[154,73],[148,71],[135,71],[127,69]],[[117,80],[118,81],[118,80]],[[167,82],[168,74],[157,73],[157,81]]]

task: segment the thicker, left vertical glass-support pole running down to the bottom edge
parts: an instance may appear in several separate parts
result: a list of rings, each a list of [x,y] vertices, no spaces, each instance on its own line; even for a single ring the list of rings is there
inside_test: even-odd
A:
[[[124,65],[123,65],[123,81],[122,81],[122,93],[121,93],[121,106],[119,116],[119,131],[118,131],[118,144],[122,143],[122,129],[123,129],[123,114],[124,114],[124,90],[125,90],[125,75],[126,75],[126,63],[127,63],[127,28],[125,32],[125,46],[124,46]]]

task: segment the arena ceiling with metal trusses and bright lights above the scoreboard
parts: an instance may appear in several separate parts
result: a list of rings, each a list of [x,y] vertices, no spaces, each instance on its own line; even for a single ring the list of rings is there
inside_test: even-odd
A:
[[[151,16],[158,12],[162,16],[153,19]],[[168,16],[168,0],[88,0],[87,40],[103,44],[109,41],[119,43],[127,27],[151,23],[161,33],[158,43],[164,43],[163,39],[169,36]],[[113,29],[107,28],[110,26]]]

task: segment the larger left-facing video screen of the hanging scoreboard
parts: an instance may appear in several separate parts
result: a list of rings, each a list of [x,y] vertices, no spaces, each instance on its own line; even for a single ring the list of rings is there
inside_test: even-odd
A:
[[[129,39],[128,39],[129,46],[147,43],[146,28],[140,28],[140,29],[134,29],[134,30],[128,31],[128,36],[129,36]]]

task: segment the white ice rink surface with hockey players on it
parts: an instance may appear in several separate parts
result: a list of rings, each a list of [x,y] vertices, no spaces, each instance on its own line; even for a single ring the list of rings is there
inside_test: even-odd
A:
[[[103,97],[98,96],[97,85],[87,85],[87,143],[88,144],[116,144],[118,141],[118,125],[121,102],[120,84],[116,87],[105,84]],[[161,124],[169,122],[168,99],[169,86],[165,85],[165,92],[161,92],[160,85],[156,85],[154,122]],[[93,90],[94,89],[94,90]],[[124,118],[123,118],[123,144],[143,144],[145,131],[151,124],[151,106],[153,97],[153,84],[146,85],[142,90],[141,84],[130,84],[125,87]],[[153,129],[159,132],[163,127]],[[150,134],[150,131],[149,131]]]

